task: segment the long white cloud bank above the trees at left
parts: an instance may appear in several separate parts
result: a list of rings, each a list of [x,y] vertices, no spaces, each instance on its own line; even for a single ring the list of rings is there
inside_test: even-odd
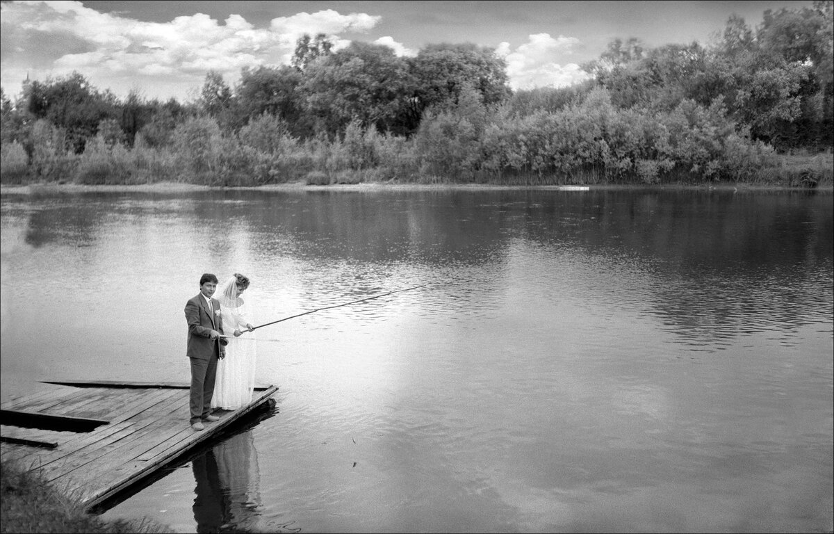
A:
[[[74,1],[2,3],[0,9],[0,34],[12,36],[2,41],[0,83],[4,88],[19,87],[26,73],[41,79],[73,70],[83,73],[93,85],[115,93],[127,93],[137,82],[154,76],[176,78],[146,85],[152,91],[168,91],[159,95],[163,97],[171,96],[174,82],[198,87],[208,70],[219,71],[231,82],[244,67],[287,64],[296,40],[304,33],[326,33],[334,49],[344,48],[349,40],[339,38],[340,33],[367,32],[380,20],[364,13],[342,15],[328,9],[274,18],[268,28],[254,28],[236,14],[223,23],[203,13],[149,23],[98,13]],[[70,41],[75,43],[70,49],[49,46]],[[183,88],[176,96],[184,96]]]

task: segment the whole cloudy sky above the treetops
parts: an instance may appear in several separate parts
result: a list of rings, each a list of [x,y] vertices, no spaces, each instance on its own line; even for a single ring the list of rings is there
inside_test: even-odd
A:
[[[505,58],[510,86],[560,87],[585,78],[580,65],[614,38],[648,46],[710,43],[732,13],[751,27],[767,9],[808,1],[712,2],[142,2],[3,1],[0,85],[81,73],[119,98],[197,97],[209,70],[234,87],[244,67],[289,64],[304,33],[327,33],[336,49],[352,40],[413,56],[430,43],[475,43]]]

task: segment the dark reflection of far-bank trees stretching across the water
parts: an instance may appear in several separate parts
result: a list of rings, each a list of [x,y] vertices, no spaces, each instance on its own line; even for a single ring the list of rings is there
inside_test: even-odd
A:
[[[834,223],[824,193],[232,190],[129,199],[85,194],[50,202],[30,216],[27,242],[87,244],[103,236],[101,224],[114,213],[140,214],[135,224],[142,225],[173,217],[181,232],[210,226],[218,242],[246,238],[248,252],[264,259],[300,259],[318,280],[305,285],[311,305],[399,289],[384,286],[390,271],[415,265],[459,286],[436,303],[446,307],[493,300],[483,295],[493,286],[505,290],[512,247],[521,242],[582,256],[590,278],[594,269],[605,276],[603,285],[639,278],[639,300],[695,340],[798,326],[809,303],[830,310]],[[357,266],[329,269],[338,262]],[[625,270],[629,276],[618,276]],[[489,284],[469,284],[484,278]]]

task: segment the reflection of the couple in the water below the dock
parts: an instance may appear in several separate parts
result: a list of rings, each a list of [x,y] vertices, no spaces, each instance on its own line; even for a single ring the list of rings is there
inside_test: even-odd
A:
[[[260,472],[252,431],[229,437],[191,465],[198,532],[259,531]]]

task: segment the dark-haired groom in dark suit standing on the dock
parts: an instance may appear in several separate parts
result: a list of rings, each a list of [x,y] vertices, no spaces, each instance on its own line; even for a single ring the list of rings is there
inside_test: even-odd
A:
[[[220,303],[211,298],[217,290],[217,276],[200,277],[200,292],[185,304],[185,320],[188,322],[188,348],[191,360],[191,428],[203,430],[202,421],[218,421],[211,415],[211,398],[214,395],[214,377],[217,360],[226,355],[224,345],[229,341],[220,337],[223,322],[220,319]]]

